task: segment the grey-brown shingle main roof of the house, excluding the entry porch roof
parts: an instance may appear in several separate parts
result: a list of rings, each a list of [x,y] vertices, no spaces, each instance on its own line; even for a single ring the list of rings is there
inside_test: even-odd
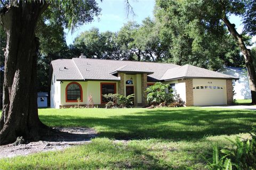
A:
[[[170,63],[99,60],[89,58],[59,59],[52,61],[57,80],[114,80],[117,72],[140,72],[148,74],[148,81],[179,78],[236,79],[230,75],[202,69],[192,65]]]

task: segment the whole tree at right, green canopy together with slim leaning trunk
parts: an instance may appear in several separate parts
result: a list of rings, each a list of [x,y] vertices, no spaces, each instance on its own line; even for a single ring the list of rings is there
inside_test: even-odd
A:
[[[251,19],[248,11],[251,11],[252,15],[253,12],[255,14],[254,6],[255,1],[250,0],[159,0],[156,2],[156,16],[163,24],[162,38],[166,42],[169,41],[172,55],[177,56],[180,62],[182,60],[196,63],[204,61],[202,64],[212,66],[222,63],[219,50],[226,46],[228,36],[225,28],[227,28],[229,35],[234,38],[243,54],[250,82],[252,104],[256,104],[256,74],[253,58],[250,49],[246,47],[245,35],[239,34],[236,25],[229,21],[229,16],[234,14],[242,16],[245,19],[244,23],[253,24],[254,21],[249,22]],[[248,27],[251,35],[254,28]],[[186,48],[188,46],[190,48]]]

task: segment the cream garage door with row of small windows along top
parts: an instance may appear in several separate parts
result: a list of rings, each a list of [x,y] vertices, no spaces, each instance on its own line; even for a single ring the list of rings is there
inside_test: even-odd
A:
[[[227,105],[226,80],[193,79],[194,106]]]

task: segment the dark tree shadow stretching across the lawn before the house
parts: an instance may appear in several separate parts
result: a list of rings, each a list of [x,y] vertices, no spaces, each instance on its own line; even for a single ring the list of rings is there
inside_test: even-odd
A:
[[[122,111],[120,109],[120,111]],[[114,139],[196,140],[207,135],[246,133],[255,123],[252,111],[218,109],[148,109],[107,118],[40,115],[50,126],[95,128],[101,137]]]

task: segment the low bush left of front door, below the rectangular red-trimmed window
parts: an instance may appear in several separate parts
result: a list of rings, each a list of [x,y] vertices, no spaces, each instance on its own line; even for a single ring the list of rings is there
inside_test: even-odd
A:
[[[108,102],[106,103],[106,108],[126,108],[133,106],[134,94],[127,97],[120,94],[107,94],[102,95]]]

